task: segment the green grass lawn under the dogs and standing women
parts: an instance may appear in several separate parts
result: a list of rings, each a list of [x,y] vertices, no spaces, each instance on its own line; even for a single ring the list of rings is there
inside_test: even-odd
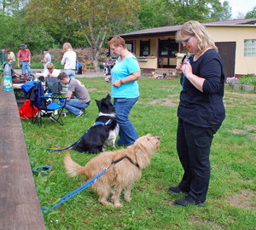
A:
[[[49,164],[49,175],[34,176],[40,204],[50,205],[82,186],[82,175],[68,177],[63,165],[66,152],[47,152],[77,141],[97,116],[95,99],[110,93],[103,78],[80,78],[92,98],[84,116],[68,113],[65,125],[45,128],[22,121],[32,167]],[[212,175],[204,207],[177,207],[173,202],[183,194],[168,194],[170,186],[181,180],[183,169],[177,158],[177,105],[181,86],[178,80],[139,80],[140,99],[131,110],[131,121],[138,135],[159,135],[160,151],[143,171],[131,191],[131,202],[121,198],[122,208],[103,206],[90,187],[44,214],[48,229],[255,229],[256,175],[256,95],[226,89],[226,118],[212,142]],[[46,122],[46,121],[45,121]],[[111,148],[108,148],[111,150]],[[95,157],[70,151],[78,164]]]

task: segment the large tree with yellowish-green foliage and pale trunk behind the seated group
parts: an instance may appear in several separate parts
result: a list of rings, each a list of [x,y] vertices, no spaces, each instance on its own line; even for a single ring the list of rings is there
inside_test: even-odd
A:
[[[111,22],[120,15],[127,23],[132,22],[139,6],[139,0],[31,0],[27,19],[40,21],[51,34],[65,32],[63,42],[70,36],[83,34],[92,48],[92,61],[98,70],[98,57]],[[40,17],[36,17],[38,14]]]

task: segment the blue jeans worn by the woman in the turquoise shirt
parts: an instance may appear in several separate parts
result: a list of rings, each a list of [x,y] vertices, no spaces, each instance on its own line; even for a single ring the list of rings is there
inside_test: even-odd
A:
[[[137,98],[113,98],[116,120],[119,124],[118,146],[131,146],[138,139],[137,131],[128,116]]]

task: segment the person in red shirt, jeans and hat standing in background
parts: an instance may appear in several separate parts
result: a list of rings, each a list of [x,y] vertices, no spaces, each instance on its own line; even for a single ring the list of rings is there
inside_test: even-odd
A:
[[[20,46],[20,51],[17,55],[17,66],[18,68],[20,68],[20,64],[21,64],[21,72],[22,75],[26,75],[26,70],[27,70],[27,74],[30,76],[32,74],[31,72],[31,53],[29,49],[26,49],[27,46],[26,44],[22,44]]]

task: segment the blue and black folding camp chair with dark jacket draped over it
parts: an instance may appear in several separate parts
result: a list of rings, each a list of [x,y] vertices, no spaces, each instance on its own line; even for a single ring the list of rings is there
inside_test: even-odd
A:
[[[46,123],[44,127],[49,124],[50,121],[56,121],[61,125],[64,124],[61,118],[61,112],[66,105],[65,98],[53,97],[52,94],[44,95],[44,89],[41,82],[33,82],[33,86],[28,93],[28,98],[30,99],[32,106],[32,114],[34,114],[34,106],[38,108],[36,116],[32,118],[33,124],[38,124],[38,126],[41,127],[43,118],[49,118],[48,123]],[[58,104],[54,100],[61,101],[61,104]]]

